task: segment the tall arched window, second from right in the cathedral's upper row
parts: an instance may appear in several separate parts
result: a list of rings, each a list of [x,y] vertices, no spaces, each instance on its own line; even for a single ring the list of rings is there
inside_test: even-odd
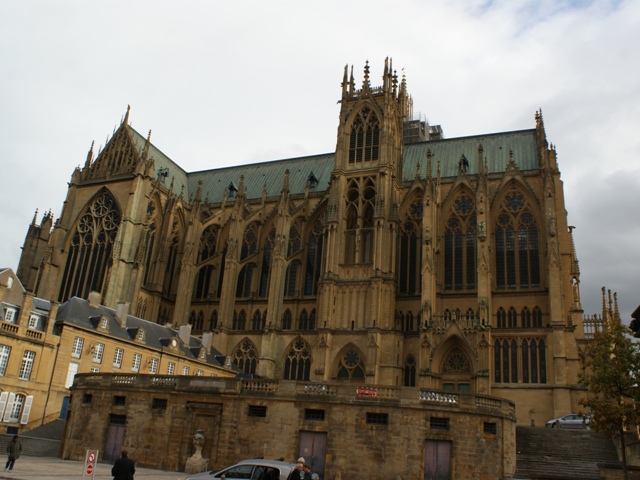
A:
[[[444,288],[476,288],[476,216],[466,193],[453,201],[444,233]]]

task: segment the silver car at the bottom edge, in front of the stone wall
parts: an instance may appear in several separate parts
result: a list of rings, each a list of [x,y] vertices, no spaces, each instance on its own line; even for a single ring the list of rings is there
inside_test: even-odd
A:
[[[289,476],[295,468],[295,463],[251,458],[241,460],[235,465],[223,470],[194,473],[193,475],[189,475],[185,480],[222,480],[230,478],[243,478],[245,480],[289,480]]]

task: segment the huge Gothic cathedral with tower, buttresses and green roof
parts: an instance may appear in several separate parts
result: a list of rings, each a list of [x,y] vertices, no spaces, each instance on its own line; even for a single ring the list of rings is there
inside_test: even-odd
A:
[[[327,154],[186,172],[127,110],[17,273],[213,332],[247,374],[497,396],[542,425],[578,410],[584,332],[541,112],[532,127],[444,138],[389,60],[377,86],[345,68]]]

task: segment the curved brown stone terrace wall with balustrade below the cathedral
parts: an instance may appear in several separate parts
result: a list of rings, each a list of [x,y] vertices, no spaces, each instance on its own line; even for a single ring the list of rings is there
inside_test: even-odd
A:
[[[166,408],[158,408],[165,401]],[[73,387],[63,458],[82,460],[87,448],[104,452],[111,415],[126,417],[121,448],[147,468],[184,471],[194,453],[192,436],[201,429],[202,456],[213,469],[252,457],[295,460],[304,453],[301,432],[311,432],[326,435],[324,458],[314,457],[324,465],[321,478],[424,478],[427,441],[450,445],[445,463],[452,479],[509,478],[515,470],[514,405],[496,397],[354,384],[81,374]]]

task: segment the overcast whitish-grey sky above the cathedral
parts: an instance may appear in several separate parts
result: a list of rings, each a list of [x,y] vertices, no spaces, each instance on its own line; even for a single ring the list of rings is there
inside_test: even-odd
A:
[[[640,304],[640,2],[0,3],[0,266],[131,105],[187,171],[332,152],[346,64],[385,57],[446,138],[533,128],[558,152],[586,314]]]

